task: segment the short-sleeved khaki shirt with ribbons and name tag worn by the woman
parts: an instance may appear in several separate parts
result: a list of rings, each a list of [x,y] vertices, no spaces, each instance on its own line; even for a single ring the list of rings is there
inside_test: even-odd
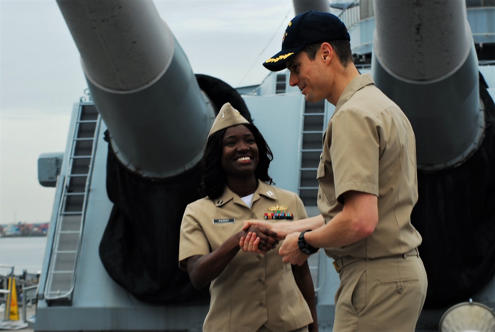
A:
[[[226,187],[214,201],[202,198],[186,207],[181,225],[179,262],[206,255],[243,228],[243,221],[264,219],[270,207],[286,206],[294,220],[306,218],[296,193],[258,181],[248,208]],[[276,212],[276,211],[275,211]],[[271,220],[279,222],[285,220]],[[280,245],[280,244],[279,244]],[[240,250],[210,285],[210,308],[203,331],[293,331],[312,323],[309,307],[297,287],[291,264],[282,263],[278,248],[265,255]]]

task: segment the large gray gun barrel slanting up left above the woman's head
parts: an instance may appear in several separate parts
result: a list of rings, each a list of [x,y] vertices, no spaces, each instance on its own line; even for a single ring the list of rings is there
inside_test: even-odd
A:
[[[150,178],[194,166],[215,114],[153,2],[57,3],[118,159]]]

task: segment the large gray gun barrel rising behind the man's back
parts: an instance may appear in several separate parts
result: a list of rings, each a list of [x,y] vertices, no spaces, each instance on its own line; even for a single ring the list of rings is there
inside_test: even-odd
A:
[[[375,0],[372,75],[406,113],[420,169],[464,161],[483,137],[478,59],[464,0]]]

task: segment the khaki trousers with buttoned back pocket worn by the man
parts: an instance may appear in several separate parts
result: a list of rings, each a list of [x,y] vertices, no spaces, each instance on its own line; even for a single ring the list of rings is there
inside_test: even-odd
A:
[[[414,332],[428,287],[419,256],[358,260],[339,277],[334,332]]]

